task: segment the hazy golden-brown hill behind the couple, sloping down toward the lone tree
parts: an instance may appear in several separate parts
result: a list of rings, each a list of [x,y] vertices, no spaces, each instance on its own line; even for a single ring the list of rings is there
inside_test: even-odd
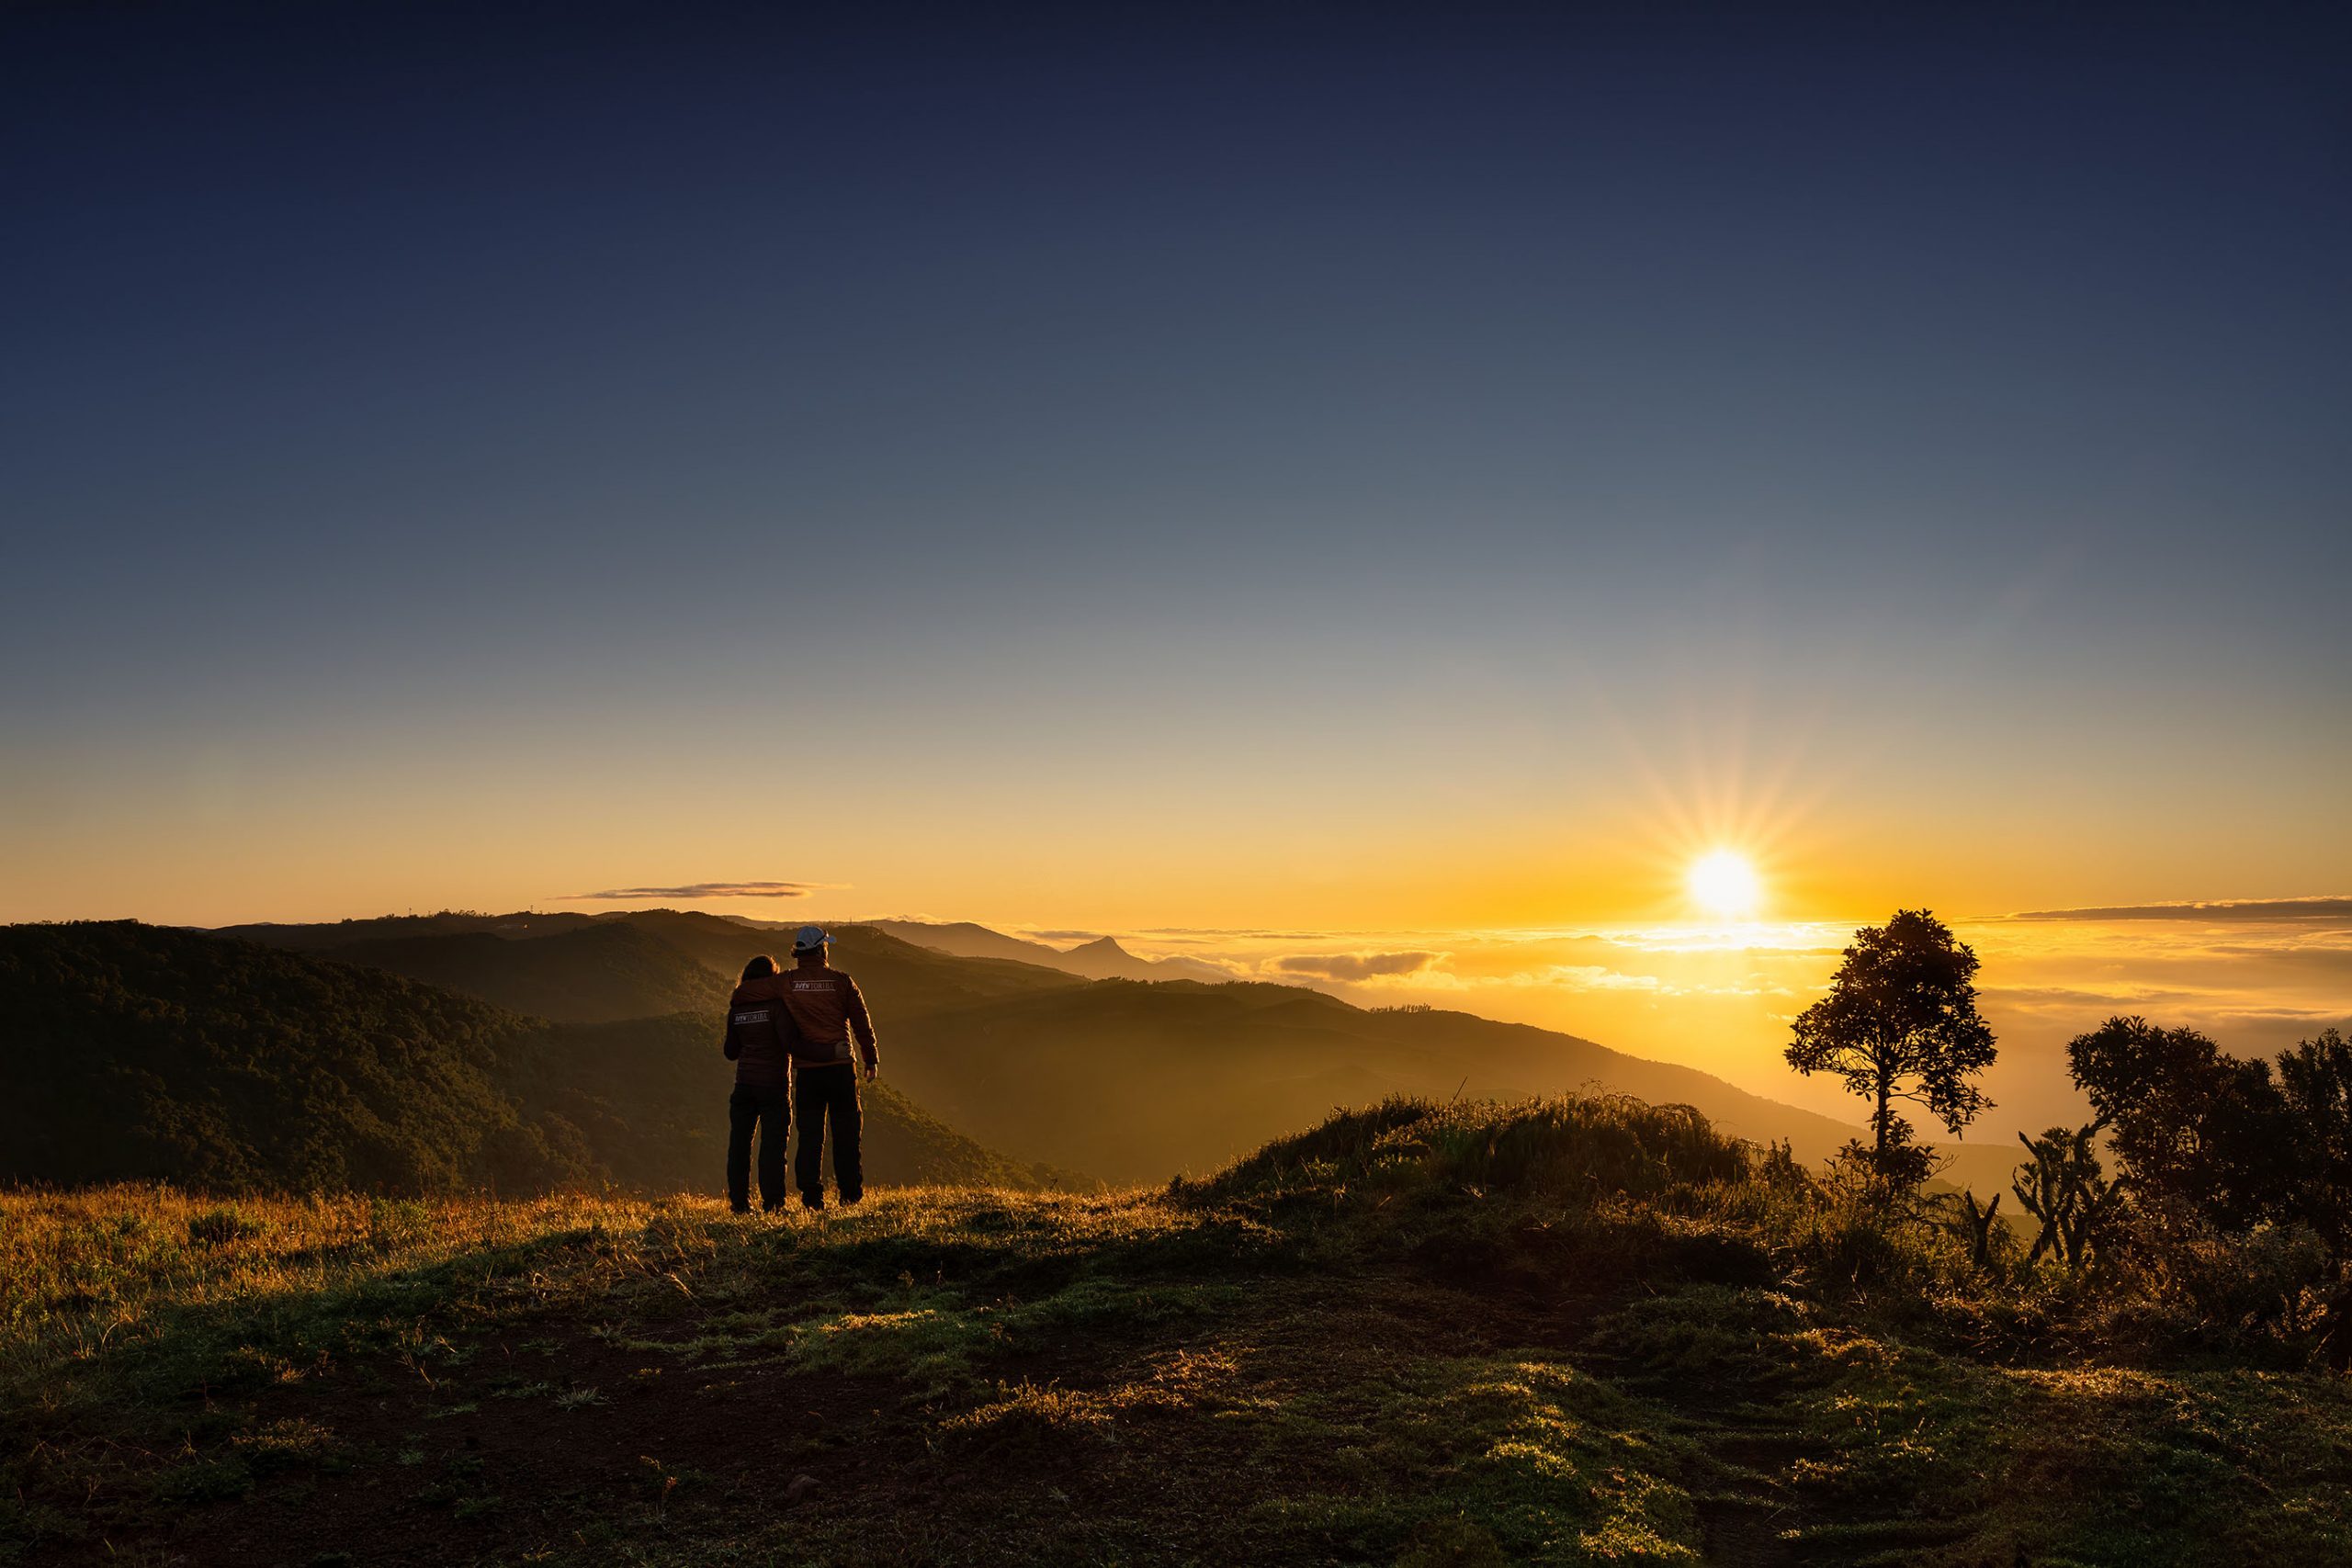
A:
[[[407,933],[395,924],[355,922],[358,940],[353,926],[273,926],[268,936],[583,1023],[663,1013],[696,987],[715,1011],[743,959],[776,947],[767,929],[675,910],[423,917]],[[1785,1138],[1809,1161],[1856,1131],[1691,1067],[1531,1025],[1367,1011],[1294,985],[1087,983],[1002,957],[957,957],[877,926],[833,933],[835,959],[875,1009],[889,1081],[988,1147],[1115,1182],[1204,1171],[1336,1105],[1392,1093],[1606,1088],[1693,1105],[1743,1138]],[[2009,1157],[1992,1159],[2006,1182]]]

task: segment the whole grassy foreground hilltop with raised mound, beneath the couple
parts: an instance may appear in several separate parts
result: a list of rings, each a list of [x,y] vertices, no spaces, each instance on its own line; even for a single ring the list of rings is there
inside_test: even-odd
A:
[[[1621,1100],[826,1215],[16,1192],[0,1293],[0,1561],[2352,1556],[2343,1380]]]

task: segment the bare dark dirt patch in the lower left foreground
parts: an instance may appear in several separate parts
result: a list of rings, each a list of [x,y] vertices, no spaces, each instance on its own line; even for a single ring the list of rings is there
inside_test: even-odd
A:
[[[807,1509],[901,1486],[920,1410],[887,1378],[797,1373],[781,1359],[696,1366],[576,1324],[487,1340],[454,1368],[379,1359],[273,1387],[254,1429],[322,1432],[247,1497],[167,1528],[89,1542],[195,1563],[466,1563],[581,1554],[614,1523]],[[793,1490],[795,1479],[814,1476]],[[908,1497],[920,1502],[920,1497]]]

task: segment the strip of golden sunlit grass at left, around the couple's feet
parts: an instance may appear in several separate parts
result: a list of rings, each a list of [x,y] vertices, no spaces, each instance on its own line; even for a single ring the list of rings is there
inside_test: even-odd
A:
[[[586,1293],[696,1288],[753,1244],[955,1237],[1054,1255],[1148,1244],[1185,1220],[1150,1199],[903,1187],[849,1213],[729,1215],[717,1199],[238,1199],[169,1187],[0,1192],[0,1394],[71,1408],[151,1380],[301,1378],[303,1363]],[[696,1276],[696,1284],[687,1284]],[[887,1338],[887,1335],[884,1335]],[[230,1342],[235,1340],[235,1342]]]

